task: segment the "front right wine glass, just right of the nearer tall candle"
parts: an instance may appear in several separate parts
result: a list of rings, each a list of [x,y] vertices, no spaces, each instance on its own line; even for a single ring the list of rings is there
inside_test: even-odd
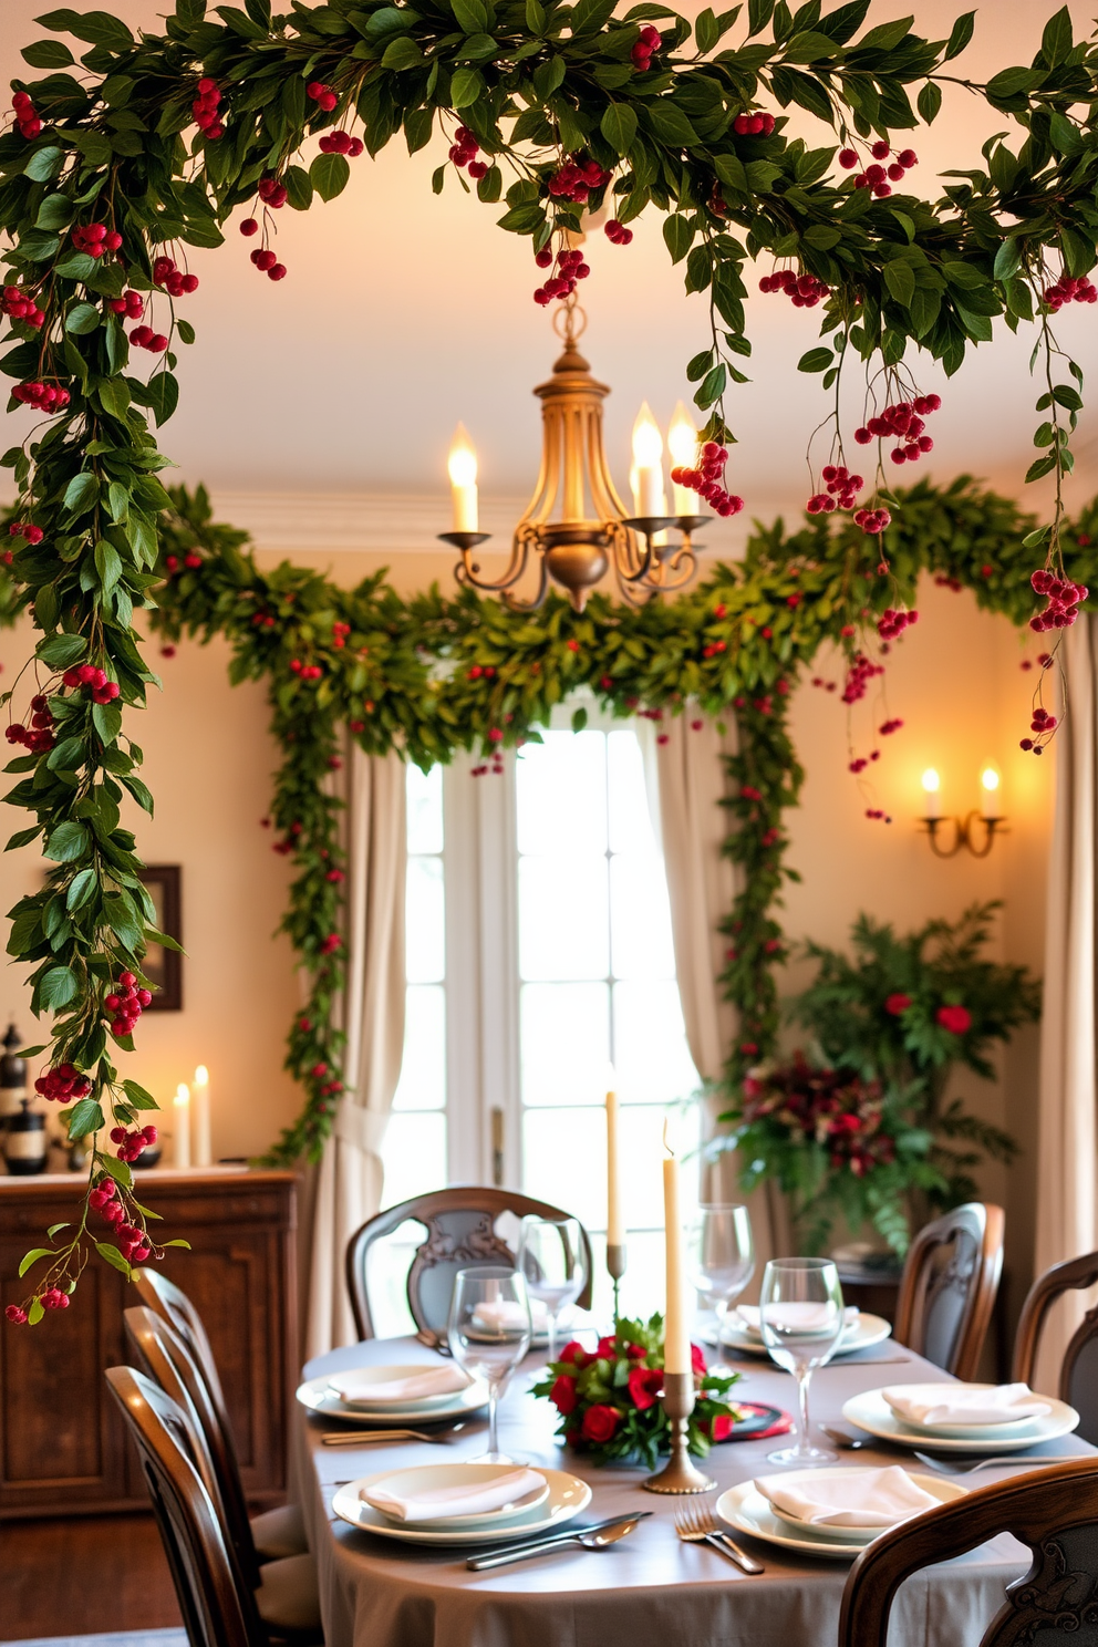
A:
[[[843,1288],[830,1258],[772,1258],[762,1275],[759,1326],[770,1359],[797,1379],[797,1444],[770,1453],[772,1464],[821,1464],[835,1453],[808,1439],[812,1374],[843,1337]]]

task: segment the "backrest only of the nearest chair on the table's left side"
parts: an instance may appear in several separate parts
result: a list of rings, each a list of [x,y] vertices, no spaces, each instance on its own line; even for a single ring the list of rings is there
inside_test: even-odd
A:
[[[133,1367],[107,1383],[133,1436],[191,1647],[268,1647],[255,1599],[240,1584],[217,1510],[196,1469],[183,1410]]]

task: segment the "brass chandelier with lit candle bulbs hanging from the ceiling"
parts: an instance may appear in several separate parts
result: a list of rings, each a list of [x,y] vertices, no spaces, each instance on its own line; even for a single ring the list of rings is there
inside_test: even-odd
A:
[[[626,601],[644,604],[654,595],[682,590],[696,572],[693,534],[710,517],[688,512],[693,494],[675,486],[675,509],[667,512],[663,494],[663,440],[647,407],[634,428],[630,514],[621,501],[603,445],[606,384],[596,382],[576,343],[586,316],[575,295],[553,316],[565,348],[548,382],[533,394],[542,402],[542,473],[533,497],[515,525],[510,560],[502,576],[482,576],[474,550],[491,534],[477,530],[476,451],[458,425],[449,453],[454,530],[441,540],[461,552],[458,583],[502,595],[514,611],[535,611],[550,581],[583,611],[589,591],[614,568]],[[680,405],[668,441],[675,461],[695,461],[696,430]],[[673,534],[673,535],[672,535]],[[514,593],[530,562],[537,563],[537,588],[530,600]]]

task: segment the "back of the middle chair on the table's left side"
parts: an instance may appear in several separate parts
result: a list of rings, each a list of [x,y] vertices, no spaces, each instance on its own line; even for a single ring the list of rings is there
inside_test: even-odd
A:
[[[122,1319],[130,1344],[156,1383],[198,1425],[202,1441],[201,1449],[196,1449],[199,1476],[214,1505],[221,1510],[240,1575],[255,1589],[260,1583],[260,1563],[249,1522],[237,1453],[230,1435],[217,1418],[206,1379],[183,1337],[156,1311],[137,1304],[123,1311]]]

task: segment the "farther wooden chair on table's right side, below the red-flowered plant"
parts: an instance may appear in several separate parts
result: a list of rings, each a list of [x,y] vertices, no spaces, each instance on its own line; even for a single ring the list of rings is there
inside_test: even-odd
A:
[[[999,1276],[1003,1207],[968,1201],[919,1230],[896,1306],[896,1339],[958,1379],[979,1367]]]

